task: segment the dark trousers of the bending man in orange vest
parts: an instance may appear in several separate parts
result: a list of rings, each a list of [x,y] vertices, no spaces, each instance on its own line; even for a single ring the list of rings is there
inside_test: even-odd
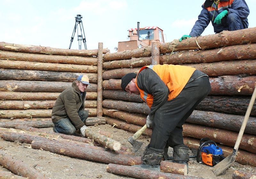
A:
[[[182,125],[210,91],[209,78],[203,76],[188,82],[176,98],[166,101],[155,113],[148,147],[164,149],[165,146],[184,144]]]

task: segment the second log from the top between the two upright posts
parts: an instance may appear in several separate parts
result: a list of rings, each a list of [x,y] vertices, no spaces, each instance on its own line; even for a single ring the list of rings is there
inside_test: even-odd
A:
[[[150,57],[132,58],[130,60],[115,60],[103,63],[104,69],[134,68],[151,64]]]

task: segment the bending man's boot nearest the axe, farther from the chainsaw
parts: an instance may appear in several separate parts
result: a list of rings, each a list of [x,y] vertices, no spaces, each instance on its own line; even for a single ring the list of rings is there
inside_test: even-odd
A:
[[[164,150],[148,148],[147,146],[141,157],[142,164],[133,166],[160,172],[160,162],[162,161],[163,153]]]

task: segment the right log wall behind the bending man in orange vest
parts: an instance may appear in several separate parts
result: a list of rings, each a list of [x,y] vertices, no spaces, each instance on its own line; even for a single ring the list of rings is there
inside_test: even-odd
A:
[[[139,95],[121,89],[121,78],[138,73],[142,66],[159,64],[192,66],[209,76],[211,93],[191,114],[183,127],[184,137],[208,137],[234,147],[244,114],[256,85],[256,27],[192,37],[182,42],[158,44],[145,49],[108,53],[103,56],[103,115],[107,123],[136,132],[150,112]],[[154,61],[152,61],[154,60]],[[202,130],[193,130],[200,128]],[[256,157],[256,102],[240,149]],[[151,135],[146,130],[144,135]],[[230,140],[221,136],[230,136]],[[246,160],[238,162],[255,165]]]

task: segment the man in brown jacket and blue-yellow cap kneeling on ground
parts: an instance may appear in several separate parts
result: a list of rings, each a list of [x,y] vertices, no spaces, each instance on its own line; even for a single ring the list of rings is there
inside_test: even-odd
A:
[[[76,129],[80,129],[81,134],[85,136],[87,127],[84,122],[89,114],[84,110],[84,101],[88,85],[88,76],[79,75],[72,86],[60,93],[52,108],[54,132],[72,135]]]

